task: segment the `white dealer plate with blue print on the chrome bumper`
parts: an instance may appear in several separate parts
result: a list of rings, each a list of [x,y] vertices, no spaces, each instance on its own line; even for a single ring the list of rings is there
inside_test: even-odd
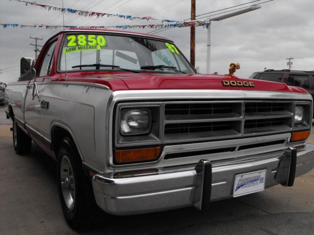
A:
[[[235,176],[234,197],[260,192],[265,188],[266,170],[243,173]]]

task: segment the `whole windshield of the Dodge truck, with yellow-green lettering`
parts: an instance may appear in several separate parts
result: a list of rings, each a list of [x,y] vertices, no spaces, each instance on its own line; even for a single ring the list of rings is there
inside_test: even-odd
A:
[[[182,52],[171,42],[133,35],[89,33],[65,35],[59,69],[195,73]]]

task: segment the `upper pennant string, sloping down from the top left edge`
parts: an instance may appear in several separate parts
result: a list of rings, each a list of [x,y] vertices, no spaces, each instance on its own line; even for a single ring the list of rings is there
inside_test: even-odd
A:
[[[111,14],[111,13],[102,13],[102,12],[94,12],[94,11],[84,11],[84,10],[77,10],[77,9],[72,9],[72,8],[63,8],[60,6],[53,6],[53,5],[47,5],[47,4],[40,4],[36,3],[34,1],[27,1],[27,0],[10,0],[10,1],[17,1],[17,2],[22,2],[27,5],[35,5],[35,6],[40,6],[48,11],[53,10],[53,11],[60,11],[60,12],[66,12],[66,13],[71,13],[71,14],[76,14],[78,16],[84,16],[84,17],[119,17],[127,20],[155,20],[155,21],[162,21],[162,22],[183,22],[183,21],[173,21],[173,20],[167,20],[167,19],[161,19],[158,17],[151,17],[151,16],[131,16],[131,15],[124,15],[124,14]]]

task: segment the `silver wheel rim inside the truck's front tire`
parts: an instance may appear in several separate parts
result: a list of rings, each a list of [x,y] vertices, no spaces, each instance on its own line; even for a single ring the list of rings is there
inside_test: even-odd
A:
[[[62,157],[60,166],[60,179],[63,199],[69,211],[74,210],[75,204],[75,182],[73,168],[68,156]]]

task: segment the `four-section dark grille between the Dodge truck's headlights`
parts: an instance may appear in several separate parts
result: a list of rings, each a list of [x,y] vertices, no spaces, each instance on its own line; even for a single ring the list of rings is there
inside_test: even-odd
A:
[[[293,101],[164,103],[164,142],[273,134],[292,129]]]

